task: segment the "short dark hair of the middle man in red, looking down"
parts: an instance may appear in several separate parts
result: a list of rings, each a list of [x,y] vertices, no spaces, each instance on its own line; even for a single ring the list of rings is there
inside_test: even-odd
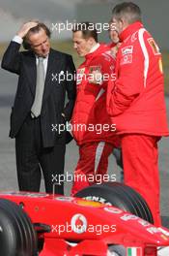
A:
[[[98,31],[96,29],[95,23],[85,21],[80,23],[75,23],[72,28],[72,32],[81,31],[83,38],[89,39],[90,37],[94,38],[98,43]]]

